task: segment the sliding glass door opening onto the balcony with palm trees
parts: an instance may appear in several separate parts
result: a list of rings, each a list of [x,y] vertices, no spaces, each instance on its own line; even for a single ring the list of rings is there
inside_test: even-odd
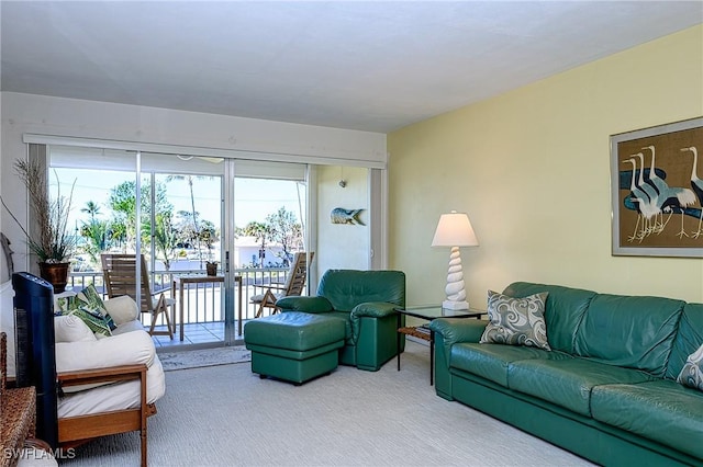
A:
[[[154,337],[161,348],[241,342],[243,323],[256,316],[252,298],[284,283],[293,254],[309,248],[304,164],[74,147],[48,152],[58,186],[74,186],[79,248],[71,285],[93,284],[107,296],[101,255],[143,255],[150,292],[174,301],[174,339]],[[167,329],[163,316],[156,324]]]

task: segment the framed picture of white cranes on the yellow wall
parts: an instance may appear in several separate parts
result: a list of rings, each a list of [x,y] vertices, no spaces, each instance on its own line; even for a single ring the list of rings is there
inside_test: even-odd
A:
[[[610,143],[612,254],[703,258],[703,117]]]

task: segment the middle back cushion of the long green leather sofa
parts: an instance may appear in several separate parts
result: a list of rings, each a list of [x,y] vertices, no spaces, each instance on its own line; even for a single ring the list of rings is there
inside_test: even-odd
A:
[[[591,300],[576,354],[662,377],[684,303],[601,294]]]

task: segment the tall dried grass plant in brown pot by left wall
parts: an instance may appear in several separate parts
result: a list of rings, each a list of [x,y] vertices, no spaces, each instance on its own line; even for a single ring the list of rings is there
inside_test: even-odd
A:
[[[63,196],[59,189],[52,198],[46,172],[38,161],[18,159],[14,171],[26,186],[30,219],[36,224],[36,235],[31,236],[4,202],[2,204],[24,232],[30,250],[36,254],[40,275],[54,285],[54,293],[60,294],[66,289],[69,260],[76,248],[76,236],[68,228],[75,182],[68,196]]]

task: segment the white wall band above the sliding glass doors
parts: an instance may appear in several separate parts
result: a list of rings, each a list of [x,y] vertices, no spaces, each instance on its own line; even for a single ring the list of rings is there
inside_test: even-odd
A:
[[[1,103],[0,193],[21,221],[26,201],[12,162],[25,156],[25,133],[211,148],[233,157],[277,153],[278,160],[297,162],[386,164],[386,135],[377,133],[8,92]],[[25,270],[24,238],[4,210],[1,226],[15,250],[15,269]]]

